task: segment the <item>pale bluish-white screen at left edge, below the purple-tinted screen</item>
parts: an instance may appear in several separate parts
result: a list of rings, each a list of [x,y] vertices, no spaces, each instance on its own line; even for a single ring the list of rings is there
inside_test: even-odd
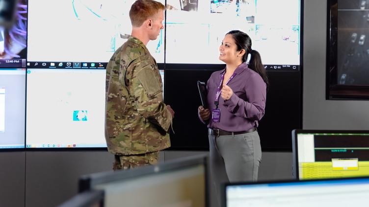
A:
[[[25,147],[26,69],[0,69],[0,148]]]

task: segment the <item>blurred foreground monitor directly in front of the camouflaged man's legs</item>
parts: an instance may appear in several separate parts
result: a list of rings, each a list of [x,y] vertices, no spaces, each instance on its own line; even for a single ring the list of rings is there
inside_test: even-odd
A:
[[[104,190],[105,207],[206,207],[207,157],[83,176],[79,190]]]

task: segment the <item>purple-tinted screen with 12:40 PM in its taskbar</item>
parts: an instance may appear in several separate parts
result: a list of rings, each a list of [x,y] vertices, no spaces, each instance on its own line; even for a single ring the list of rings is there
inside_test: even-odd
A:
[[[26,67],[26,39],[27,1],[0,0],[0,68]]]

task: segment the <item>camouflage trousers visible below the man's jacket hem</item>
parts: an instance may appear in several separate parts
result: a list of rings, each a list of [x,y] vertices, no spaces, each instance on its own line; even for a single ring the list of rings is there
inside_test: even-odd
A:
[[[158,163],[159,152],[145,153],[141,155],[115,155],[113,170],[127,170],[135,167]]]

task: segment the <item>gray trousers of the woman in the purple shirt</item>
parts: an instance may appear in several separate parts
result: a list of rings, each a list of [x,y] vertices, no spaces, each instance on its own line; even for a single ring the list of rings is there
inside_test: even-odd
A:
[[[220,184],[258,180],[262,148],[258,131],[230,136],[209,135],[211,187],[220,199]]]

